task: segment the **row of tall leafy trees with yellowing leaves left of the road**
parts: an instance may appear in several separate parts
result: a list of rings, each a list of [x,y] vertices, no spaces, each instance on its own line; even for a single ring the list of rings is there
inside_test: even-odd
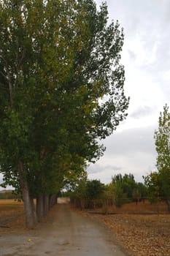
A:
[[[23,197],[27,227],[126,116],[124,36],[107,18],[93,0],[0,1],[0,171]]]

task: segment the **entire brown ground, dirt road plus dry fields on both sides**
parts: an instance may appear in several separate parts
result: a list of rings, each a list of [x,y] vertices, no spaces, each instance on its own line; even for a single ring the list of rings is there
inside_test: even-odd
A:
[[[0,255],[169,256],[170,215],[152,214],[156,206],[149,204],[124,207],[104,215],[102,209],[87,212],[58,204],[35,230],[26,230],[23,204],[0,200]],[[146,213],[136,214],[136,207]],[[134,214],[127,214],[130,210]]]

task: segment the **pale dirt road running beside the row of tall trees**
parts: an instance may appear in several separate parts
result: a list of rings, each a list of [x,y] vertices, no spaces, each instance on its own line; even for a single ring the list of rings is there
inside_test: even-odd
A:
[[[1,233],[1,256],[125,256],[115,238],[101,223],[72,211],[69,204],[56,206],[51,221],[36,230]]]

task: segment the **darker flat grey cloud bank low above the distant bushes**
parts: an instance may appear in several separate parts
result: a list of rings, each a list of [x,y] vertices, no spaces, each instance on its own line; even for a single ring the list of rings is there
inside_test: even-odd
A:
[[[107,150],[88,167],[89,175],[107,183],[116,173],[133,173],[137,181],[142,181],[142,176],[155,168],[154,131],[155,127],[145,127],[115,132],[104,140]]]

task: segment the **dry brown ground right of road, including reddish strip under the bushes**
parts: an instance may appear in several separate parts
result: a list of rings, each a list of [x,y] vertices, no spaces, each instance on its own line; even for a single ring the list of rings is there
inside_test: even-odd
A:
[[[102,211],[90,210],[88,216],[111,228],[130,255],[170,255],[170,214],[165,203],[128,203],[121,208],[110,207],[108,212],[112,214],[104,215]]]

